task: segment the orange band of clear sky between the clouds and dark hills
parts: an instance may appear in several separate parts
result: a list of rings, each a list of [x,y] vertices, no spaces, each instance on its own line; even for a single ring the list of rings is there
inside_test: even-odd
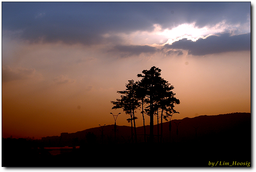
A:
[[[35,68],[4,68],[21,79],[2,82],[2,134],[59,136],[62,132],[113,124],[110,112],[121,112],[117,125],[129,125],[128,115],[121,109],[112,110],[110,101],[120,98],[116,91],[124,90],[128,80],[138,80],[136,74],[153,65],[162,69],[161,76],[174,86],[180,100],[175,106],[180,114],[172,119],[251,112],[250,55],[250,51],[208,55],[203,59],[186,55],[167,59],[159,55],[134,61],[115,59],[109,65],[105,60],[95,60],[88,62],[91,65],[63,65],[69,68],[66,75],[56,74],[61,72],[54,69],[55,65],[52,65],[55,73],[42,70],[47,74]],[[30,54],[26,58],[32,60]],[[38,68],[43,69],[41,66],[48,63],[46,59],[36,60],[33,63]],[[139,118],[136,125],[142,126],[141,114],[136,116]],[[148,125],[149,116],[145,118]]]

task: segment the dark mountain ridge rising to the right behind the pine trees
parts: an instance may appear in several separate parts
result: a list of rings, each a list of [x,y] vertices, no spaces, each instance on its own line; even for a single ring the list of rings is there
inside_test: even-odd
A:
[[[177,142],[176,124],[178,126],[178,142],[194,142],[195,133],[197,132],[198,142],[219,142],[221,140],[235,140],[236,142],[251,141],[251,113],[230,113],[213,116],[197,116],[193,118],[183,118],[171,120],[171,142]],[[156,122],[154,122],[156,123]],[[149,125],[146,126],[146,134],[149,134]],[[114,140],[114,125],[104,126],[103,143],[112,143]],[[195,130],[197,128],[197,130]],[[131,127],[118,126],[116,140],[118,143],[128,143],[131,141]],[[101,128],[95,127],[85,129],[76,133],[65,133],[62,136],[42,137],[44,142],[51,142],[55,146],[71,144],[71,140],[78,138],[79,141],[86,141],[86,134],[91,132],[97,137],[97,142],[101,143]],[[136,127],[138,142],[144,142],[143,126]],[[159,134],[161,131],[161,123],[159,123]],[[134,132],[134,128],[133,128]],[[64,133],[63,133],[64,134]],[[157,135],[157,124],[154,125],[154,135]],[[157,141],[157,138],[156,138]],[[163,142],[169,142],[169,122],[163,122]]]

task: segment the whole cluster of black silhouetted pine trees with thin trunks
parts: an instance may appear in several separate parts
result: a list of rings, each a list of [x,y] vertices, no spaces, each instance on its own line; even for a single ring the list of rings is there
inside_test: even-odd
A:
[[[140,106],[145,105],[142,110],[142,114],[150,116],[150,142],[153,142],[153,126],[154,126],[154,115],[158,116],[158,111],[161,110],[161,123],[164,118],[167,120],[167,116],[173,113],[179,113],[174,110],[174,104],[179,104],[179,99],[175,98],[175,93],[172,92],[174,87],[161,77],[161,69],[155,66],[149,70],[143,70],[142,74],[138,74],[137,77],[142,78],[140,81],[134,82],[134,80],[128,80],[126,84],[126,90],[117,91],[122,94],[121,99],[111,101],[113,103],[112,109],[121,108],[126,114],[130,114],[131,118],[128,122],[133,120],[135,126],[134,116],[135,110]],[[165,114],[163,114],[165,112]],[[132,117],[133,115],[133,117]],[[144,135],[145,135],[145,123],[143,115]],[[161,130],[162,134],[162,130]],[[136,130],[135,130],[136,140]]]

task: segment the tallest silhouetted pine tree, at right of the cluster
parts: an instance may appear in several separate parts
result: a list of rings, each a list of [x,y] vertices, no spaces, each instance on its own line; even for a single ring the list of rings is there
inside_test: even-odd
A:
[[[151,67],[150,70],[143,70],[142,74],[138,74],[138,77],[142,77],[139,82],[140,87],[144,90],[144,95],[147,97],[148,106],[145,108],[145,112],[150,116],[150,142],[154,140],[154,115],[158,119],[158,110],[161,109],[161,123],[163,118],[163,112],[168,115],[173,112],[174,105],[179,104],[179,100],[174,98],[174,93],[171,91],[173,86],[171,86],[168,81],[165,81],[161,75],[161,69],[155,66]],[[162,125],[161,125],[162,127]],[[162,135],[162,131],[161,131]],[[162,137],[161,137],[162,138]],[[159,140],[159,130],[158,130],[158,140]]]

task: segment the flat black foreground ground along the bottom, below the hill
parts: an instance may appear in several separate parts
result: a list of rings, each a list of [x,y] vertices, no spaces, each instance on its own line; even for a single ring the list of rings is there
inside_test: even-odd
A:
[[[5,157],[2,154],[3,167],[211,167],[212,162],[218,162],[215,167],[226,167],[220,166],[223,162],[229,162],[227,167],[247,167],[233,161],[251,162],[251,144],[214,142],[97,144],[54,156],[46,149],[16,151]]]

